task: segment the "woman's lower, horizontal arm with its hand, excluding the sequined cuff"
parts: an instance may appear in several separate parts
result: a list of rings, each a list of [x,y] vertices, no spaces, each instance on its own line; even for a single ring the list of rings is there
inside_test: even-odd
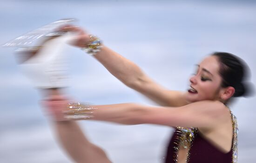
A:
[[[46,104],[55,117],[62,117],[60,114],[63,112],[60,111],[66,109],[67,100],[51,99],[47,100]],[[90,107],[95,108],[88,112],[89,119],[94,120],[127,125],[157,124],[201,128],[216,126],[225,120],[225,115],[229,112],[221,102],[210,100],[194,102],[183,107],[151,107],[134,103]]]

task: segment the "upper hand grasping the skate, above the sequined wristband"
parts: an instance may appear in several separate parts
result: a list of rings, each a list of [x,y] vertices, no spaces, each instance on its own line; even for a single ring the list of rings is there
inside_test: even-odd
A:
[[[62,26],[59,31],[74,31],[75,36],[70,44],[79,48],[85,47],[90,41],[88,33],[79,26],[66,25]]]

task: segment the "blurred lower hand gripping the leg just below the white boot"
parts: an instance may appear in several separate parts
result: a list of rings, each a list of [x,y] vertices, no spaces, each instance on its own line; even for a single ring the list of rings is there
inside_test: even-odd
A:
[[[63,111],[67,109],[70,100],[62,95],[51,95],[46,100],[42,100],[41,104],[46,108],[47,113],[56,120],[67,120],[64,118]]]

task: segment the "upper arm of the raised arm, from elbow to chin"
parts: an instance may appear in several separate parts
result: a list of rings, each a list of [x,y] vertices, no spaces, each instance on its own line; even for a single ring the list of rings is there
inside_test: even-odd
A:
[[[181,107],[188,104],[184,92],[167,90],[146,75],[130,87],[162,106]]]

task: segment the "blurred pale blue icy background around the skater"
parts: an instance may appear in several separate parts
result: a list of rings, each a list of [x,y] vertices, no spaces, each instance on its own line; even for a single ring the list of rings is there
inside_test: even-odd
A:
[[[2,0],[0,44],[63,18],[97,34],[155,81],[184,90],[194,65],[214,51],[242,57],[256,77],[254,0]],[[40,94],[0,48],[0,163],[71,163],[39,105]],[[151,101],[124,86],[83,51],[69,47],[70,88],[94,104]],[[231,105],[239,123],[239,163],[255,163],[255,97]],[[159,125],[80,122],[114,163],[161,163],[172,129]]]

